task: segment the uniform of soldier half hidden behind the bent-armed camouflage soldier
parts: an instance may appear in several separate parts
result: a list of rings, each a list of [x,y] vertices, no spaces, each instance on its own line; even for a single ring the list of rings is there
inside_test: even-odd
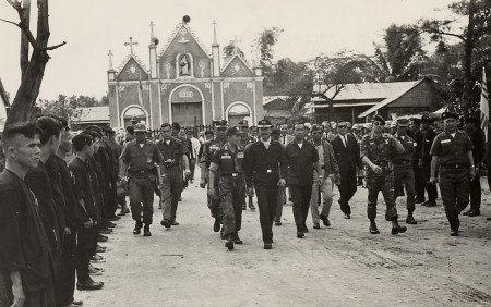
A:
[[[411,158],[415,152],[415,142],[410,136],[405,135],[404,138],[402,136],[395,135],[395,138],[403,145],[404,154],[398,155],[394,158],[394,186],[395,188],[406,187],[406,207],[408,212],[415,211],[415,197],[416,197],[416,187],[415,187],[415,172],[412,170]],[[404,195],[404,191],[395,191],[395,195]]]

